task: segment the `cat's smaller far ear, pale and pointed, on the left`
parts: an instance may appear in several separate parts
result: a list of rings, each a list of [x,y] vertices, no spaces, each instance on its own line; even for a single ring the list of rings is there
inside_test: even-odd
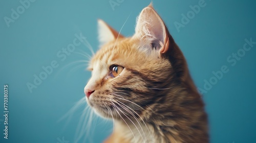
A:
[[[98,19],[98,34],[100,44],[105,44],[123,36],[106,24],[103,20]]]

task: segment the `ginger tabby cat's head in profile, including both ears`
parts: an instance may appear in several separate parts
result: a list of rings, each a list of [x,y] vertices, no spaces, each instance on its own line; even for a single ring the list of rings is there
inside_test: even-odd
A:
[[[186,75],[181,51],[152,5],[141,11],[132,37],[102,20],[98,26],[102,45],[88,67],[88,104],[104,117],[150,117]]]

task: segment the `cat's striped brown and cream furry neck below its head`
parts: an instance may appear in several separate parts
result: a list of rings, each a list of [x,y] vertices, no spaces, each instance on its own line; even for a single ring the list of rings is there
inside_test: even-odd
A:
[[[115,122],[114,130],[127,142],[178,143],[184,142],[182,138],[186,136],[193,136],[191,142],[195,138],[199,142],[208,142],[208,138],[204,138],[208,136],[205,134],[208,130],[207,115],[203,111],[204,105],[199,94],[188,92],[184,88],[169,90],[165,95],[168,100],[145,108],[143,116],[148,114],[148,118],[143,121],[133,117],[124,118],[125,122],[123,120]],[[173,95],[174,91],[177,93],[176,96]]]

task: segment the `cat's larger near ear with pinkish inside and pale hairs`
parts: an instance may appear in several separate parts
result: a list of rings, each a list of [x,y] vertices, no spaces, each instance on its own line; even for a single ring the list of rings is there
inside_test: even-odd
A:
[[[135,36],[145,41],[152,49],[166,53],[169,46],[168,31],[152,4],[144,8],[137,18]]]

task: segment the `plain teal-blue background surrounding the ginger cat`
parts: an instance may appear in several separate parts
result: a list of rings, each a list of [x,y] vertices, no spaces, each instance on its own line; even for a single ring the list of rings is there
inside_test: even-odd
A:
[[[86,63],[81,60],[88,59],[81,54],[91,52],[81,44],[61,61],[58,51],[67,48],[75,34],[80,33],[97,51],[97,18],[119,31],[130,15],[121,33],[132,36],[136,16],[150,2],[124,0],[112,8],[109,1],[103,0],[37,0],[8,27],[4,17],[11,18],[11,9],[17,11],[22,4],[1,1],[0,142],[75,142],[79,117],[86,104],[69,114],[70,122],[68,118],[58,120],[84,97],[83,88],[91,74],[84,70]],[[191,10],[189,6],[198,2],[153,1],[183,51],[199,88],[204,89],[205,80],[214,77],[212,71],[221,70],[223,65],[229,69],[203,93],[211,142],[256,142],[256,45],[236,65],[227,61],[243,48],[245,39],[256,41],[256,2],[206,0],[206,6],[178,32],[174,22],[181,23],[181,14],[186,15]],[[38,76],[44,71],[42,66],[49,66],[53,60],[59,66],[30,92],[27,83],[33,83],[33,75]],[[8,140],[3,138],[4,84],[9,85]],[[111,132],[112,122],[94,115],[91,129],[78,142],[101,142]]]

